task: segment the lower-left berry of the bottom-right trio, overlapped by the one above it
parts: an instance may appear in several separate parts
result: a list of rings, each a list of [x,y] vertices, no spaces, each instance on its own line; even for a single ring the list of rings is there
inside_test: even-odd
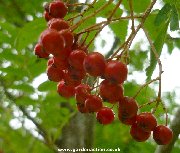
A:
[[[151,132],[145,132],[141,128],[139,128],[137,124],[133,124],[130,129],[130,134],[134,140],[143,142],[150,137]]]

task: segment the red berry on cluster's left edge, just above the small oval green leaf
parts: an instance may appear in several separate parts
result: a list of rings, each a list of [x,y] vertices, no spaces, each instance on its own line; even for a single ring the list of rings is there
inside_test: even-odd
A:
[[[47,76],[49,80],[59,82],[63,79],[64,72],[54,65],[50,65],[47,67]]]

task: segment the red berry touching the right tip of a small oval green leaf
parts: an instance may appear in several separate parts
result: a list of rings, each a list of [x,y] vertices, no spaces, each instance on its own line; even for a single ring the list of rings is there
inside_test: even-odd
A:
[[[74,86],[66,85],[64,81],[58,83],[57,92],[65,98],[73,97],[75,94]]]

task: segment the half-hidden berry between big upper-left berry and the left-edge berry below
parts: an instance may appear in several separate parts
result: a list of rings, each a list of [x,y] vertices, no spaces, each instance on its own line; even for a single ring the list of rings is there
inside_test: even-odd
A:
[[[58,57],[53,57],[53,64],[61,70],[65,70],[69,67],[67,60],[62,60]]]

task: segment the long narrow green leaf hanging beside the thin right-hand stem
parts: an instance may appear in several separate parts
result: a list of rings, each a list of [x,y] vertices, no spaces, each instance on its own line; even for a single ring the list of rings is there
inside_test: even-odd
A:
[[[162,48],[164,45],[164,41],[166,39],[168,25],[169,25],[169,22],[167,22],[162,27],[160,33],[158,34],[158,36],[154,42],[154,47],[155,47],[156,52],[159,56],[161,55]],[[157,59],[155,58],[155,55],[154,55],[153,51],[151,50],[151,52],[150,52],[150,65],[149,65],[149,67],[146,68],[147,81],[149,81],[151,79],[151,76],[154,72],[156,64],[157,64]]]

